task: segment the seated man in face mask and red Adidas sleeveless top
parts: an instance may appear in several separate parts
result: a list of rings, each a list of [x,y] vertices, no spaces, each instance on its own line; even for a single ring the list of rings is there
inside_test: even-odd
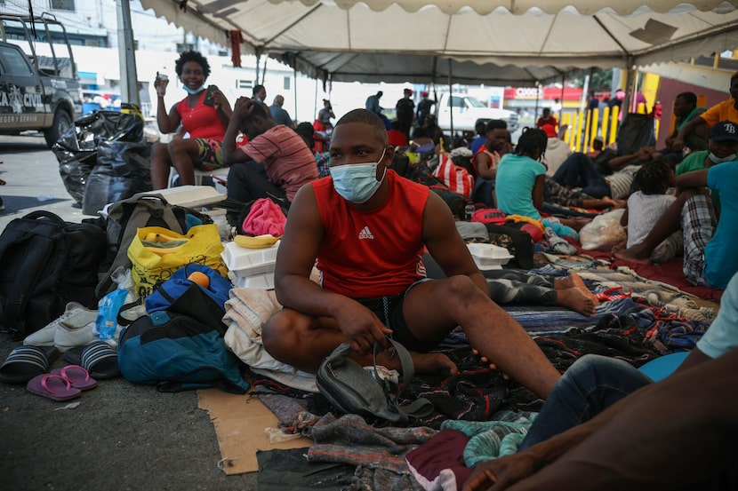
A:
[[[285,308],[264,326],[267,352],[314,373],[345,342],[357,362],[371,364],[374,342],[387,347],[391,336],[418,373],[455,375],[453,362],[430,350],[461,326],[497,368],[547,397],[558,370],[490,299],[445,202],[388,169],[394,149],[381,119],[365,109],[341,117],[330,154],[331,176],[302,186],[287,219],[275,269]],[[447,278],[426,277],[424,247]],[[309,279],[313,265],[322,288]],[[391,350],[377,363],[401,368]]]

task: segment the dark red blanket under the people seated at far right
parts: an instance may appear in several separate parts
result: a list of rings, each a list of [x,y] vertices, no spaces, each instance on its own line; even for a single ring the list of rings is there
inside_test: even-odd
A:
[[[586,254],[596,259],[611,260],[611,252],[605,252],[602,250],[584,250],[578,241],[569,239],[569,242],[571,242],[574,247],[576,247],[577,251],[582,254]],[[686,293],[691,293],[695,297],[704,298],[705,300],[713,300],[719,303],[720,297],[723,296],[723,290],[710,287],[695,287],[692,283],[686,281],[684,272],[682,271],[682,261],[682,257],[674,257],[668,263],[662,263],[661,265],[643,265],[613,257],[611,267],[628,266],[630,269],[648,280],[662,281],[675,286],[682,291],[686,291]]]

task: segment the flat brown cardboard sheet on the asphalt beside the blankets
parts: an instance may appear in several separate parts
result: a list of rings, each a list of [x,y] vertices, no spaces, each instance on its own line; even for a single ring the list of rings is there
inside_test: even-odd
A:
[[[218,389],[197,391],[199,408],[210,414],[221,447],[223,471],[227,475],[259,470],[258,450],[310,447],[313,440],[301,437],[270,443],[266,428],[277,428],[277,416],[256,397],[229,394]]]

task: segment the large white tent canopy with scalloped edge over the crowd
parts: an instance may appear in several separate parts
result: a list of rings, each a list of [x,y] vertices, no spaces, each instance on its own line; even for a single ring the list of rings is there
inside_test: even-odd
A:
[[[665,0],[141,0],[221,44],[334,81],[531,85],[738,46],[738,2]],[[182,10],[182,5],[185,9]]]

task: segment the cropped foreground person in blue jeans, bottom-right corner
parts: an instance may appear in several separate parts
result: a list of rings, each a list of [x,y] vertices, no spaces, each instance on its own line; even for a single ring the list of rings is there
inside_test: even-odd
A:
[[[582,357],[517,454],[477,464],[463,491],[734,489],[736,370],[738,273],[717,319],[675,373],[653,383],[625,361]]]

